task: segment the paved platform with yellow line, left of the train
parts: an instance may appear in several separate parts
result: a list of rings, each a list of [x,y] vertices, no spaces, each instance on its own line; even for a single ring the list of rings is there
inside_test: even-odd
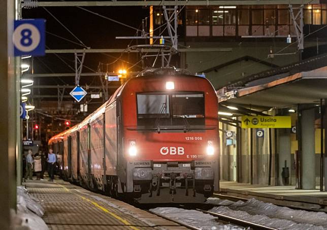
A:
[[[54,182],[28,180],[23,185],[45,209],[42,218],[49,229],[186,229],[175,222],[61,179]]]

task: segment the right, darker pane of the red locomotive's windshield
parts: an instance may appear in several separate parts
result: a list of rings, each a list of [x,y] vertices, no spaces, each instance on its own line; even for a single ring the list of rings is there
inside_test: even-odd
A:
[[[203,94],[172,95],[173,118],[204,118]]]

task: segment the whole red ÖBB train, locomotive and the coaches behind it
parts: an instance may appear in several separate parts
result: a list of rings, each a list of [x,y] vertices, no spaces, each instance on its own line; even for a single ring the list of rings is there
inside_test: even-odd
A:
[[[202,76],[148,69],[48,141],[64,180],[146,203],[203,203],[219,189],[218,98]]]

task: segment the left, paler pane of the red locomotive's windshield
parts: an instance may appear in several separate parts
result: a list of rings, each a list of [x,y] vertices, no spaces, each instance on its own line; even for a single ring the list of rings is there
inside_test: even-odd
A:
[[[138,94],[138,118],[169,118],[169,95]]]

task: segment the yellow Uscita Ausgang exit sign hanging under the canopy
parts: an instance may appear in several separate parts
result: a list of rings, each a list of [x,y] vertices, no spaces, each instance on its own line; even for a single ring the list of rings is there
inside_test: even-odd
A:
[[[242,128],[290,128],[291,122],[289,116],[275,117],[242,117]]]

